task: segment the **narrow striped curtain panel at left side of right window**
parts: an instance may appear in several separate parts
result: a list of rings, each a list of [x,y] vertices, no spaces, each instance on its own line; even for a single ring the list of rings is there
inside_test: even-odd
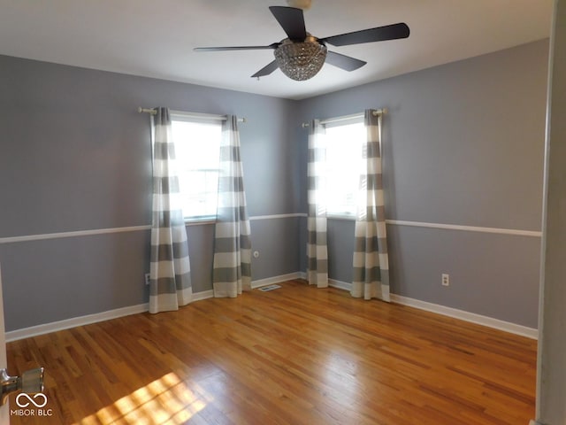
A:
[[[307,168],[307,278],[317,288],[328,286],[328,248],[326,244],[326,150],[325,127],[319,120],[309,126],[309,164]]]

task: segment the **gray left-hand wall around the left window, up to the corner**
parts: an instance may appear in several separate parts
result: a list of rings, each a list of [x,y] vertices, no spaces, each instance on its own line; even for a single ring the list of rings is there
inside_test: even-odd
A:
[[[249,214],[294,213],[293,102],[0,56],[0,238],[150,223],[149,116],[138,106],[233,113]],[[253,278],[300,268],[296,218],[252,224]],[[195,291],[211,290],[211,225],[188,226]],[[279,236],[285,237],[279,237]],[[6,329],[148,300],[149,231],[0,243]]]

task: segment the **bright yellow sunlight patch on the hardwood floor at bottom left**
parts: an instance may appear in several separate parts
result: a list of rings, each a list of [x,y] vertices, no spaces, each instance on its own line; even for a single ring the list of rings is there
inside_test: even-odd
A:
[[[83,418],[80,425],[175,425],[200,412],[207,401],[170,373]]]

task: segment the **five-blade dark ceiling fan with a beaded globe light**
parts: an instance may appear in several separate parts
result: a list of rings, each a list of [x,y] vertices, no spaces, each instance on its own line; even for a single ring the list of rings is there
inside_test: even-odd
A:
[[[304,81],[315,76],[325,62],[346,71],[354,71],[367,63],[327,50],[326,43],[333,46],[348,46],[363,42],[381,42],[409,37],[409,27],[400,22],[384,27],[317,38],[307,32],[302,9],[270,6],[269,10],[287,34],[287,38],[281,42],[272,42],[272,44],[266,46],[197,47],[195,51],[272,49],[275,60],[254,73],[252,78],[269,75],[279,68],[287,77],[296,81]]]

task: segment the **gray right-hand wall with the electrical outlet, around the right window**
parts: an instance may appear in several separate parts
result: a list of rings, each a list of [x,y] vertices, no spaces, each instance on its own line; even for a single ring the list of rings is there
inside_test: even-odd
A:
[[[295,126],[386,107],[387,219],[539,231],[547,50],[533,42],[310,98]],[[387,228],[395,294],[537,328],[539,237]],[[344,282],[348,234],[352,222],[330,220],[329,274]]]

